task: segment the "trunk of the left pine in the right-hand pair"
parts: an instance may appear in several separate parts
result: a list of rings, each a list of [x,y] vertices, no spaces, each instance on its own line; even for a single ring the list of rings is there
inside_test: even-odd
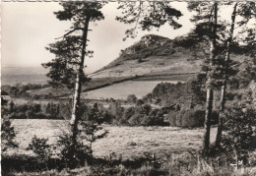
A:
[[[206,115],[204,125],[204,139],[203,150],[207,151],[210,145],[210,131],[211,131],[211,119],[213,110],[214,91],[212,88],[213,73],[214,73],[214,60],[216,57],[216,34],[217,34],[217,16],[218,16],[218,3],[214,4],[214,18],[213,18],[213,34],[210,41],[210,71],[207,73],[207,99],[206,99]]]

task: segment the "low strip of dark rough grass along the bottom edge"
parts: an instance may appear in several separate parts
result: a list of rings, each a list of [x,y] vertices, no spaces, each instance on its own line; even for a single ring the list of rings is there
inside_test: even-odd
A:
[[[47,161],[36,157],[17,155],[4,157],[2,175],[251,175],[256,174],[254,165],[235,166],[224,157],[202,158],[200,154],[184,152],[172,154],[161,160],[152,153],[132,160],[121,160],[114,155],[93,159],[79,168],[69,169],[59,159]],[[253,160],[253,159],[252,159]]]

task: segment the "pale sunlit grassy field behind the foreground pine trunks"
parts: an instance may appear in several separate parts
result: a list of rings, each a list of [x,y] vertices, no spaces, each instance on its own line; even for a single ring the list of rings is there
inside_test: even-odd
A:
[[[10,151],[32,154],[26,150],[32,137],[48,138],[54,144],[58,136],[68,129],[68,121],[61,120],[18,120],[12,121],[17,132],[16,141],[20,148]],[[115,152],[123,159],[142,156],[144,152],[155,152],[157,157],[175,152],[196,150],[201,147],[203,129],[181,129],[175,127],[111,127],[105,126],[109,134],[105,139],[97,141],[94,146],[96,157],[105,157]],[[216,128],[212,129],[211,141],[214,142]]]

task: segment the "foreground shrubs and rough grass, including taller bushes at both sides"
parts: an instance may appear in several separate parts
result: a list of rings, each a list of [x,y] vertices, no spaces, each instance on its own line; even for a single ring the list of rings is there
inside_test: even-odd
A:
[[[5,128],[2,128],[2,139],[6,143],[2,145],[7,147],[2,147],[6,148],[2,150],[2,175],[255,175],[256,155],[251,146],[255,111],[249,108],[242,110],[242,107],[242,104],[230,106],[224,122],[222,146],[211,147],[208,155],[201,153],[200,149],[185,149],[165,156],[160,155],[160,152],[142,151],[139,156],[129,158],[115,152],[96,157],[100,147],[94,144],[97,140],[105,140],[111,132],[107,128],[104,130],[99,119],[95,123],[80,125],[78,144],[73,150],[78,157],[69,157],[73,151],[70,146],[72,138],[68,132],[60,133],[58,140],[53,143],[49,143],[47,138],[35,136],[27,147],[32,150],[32,155],[10,155],[6,154],[7,147],[18,147],[16,133],[10,121],[3,120]],[[90,117],[97,119],[97,113],[94,112],[91,112]],[[99,140],[101,138],[104,139]],[[115,142],[111,143],[115,146]],[[131,144],[135,150],[139,149],[137,145]],[[129,153],[128,148],[126,152]]]

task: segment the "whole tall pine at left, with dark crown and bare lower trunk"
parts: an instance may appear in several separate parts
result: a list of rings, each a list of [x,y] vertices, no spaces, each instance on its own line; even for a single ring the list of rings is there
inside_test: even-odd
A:
[[[85,57],[92,57],[93,51],[87,50],[88,31],[90,22],[103,20],[100,9],[105,3],[101,2],[63,2],[63,10],[55,12],[60,21],[70,21],[70,30],[61,40],[49,44],[46,49],[55,54],[55,59],[42,64],[44,68],[50,68],[47,76],[51,79],[50,85],[55,88],[73,89],[73,105],[71,115],[71,131],[73,151],[75,150],[81,88],[88,81],[84,73]]]

